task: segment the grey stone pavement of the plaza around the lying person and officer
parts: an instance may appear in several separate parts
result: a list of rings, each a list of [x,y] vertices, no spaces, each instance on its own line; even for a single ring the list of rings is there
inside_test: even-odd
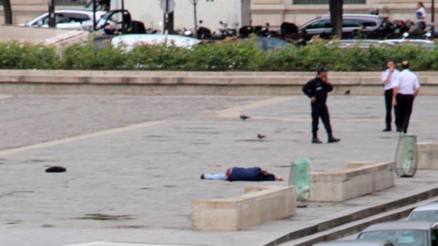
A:
[[[437,99],[415,101],[409,133],[418,142],[438,142]],[[0,245],[276,245],[323,221],[430,190],[437,195],[438,171],[418,171],[391,189],[309,203],[296,216],[249,230],[191,230],[192,200],[241,195],[254,185],[201,180],[201,173],[262,166],[288,180],[291,161],[303,156],[312,171],[394,159],[398,133],[381,132],[382,96],[331,96],[329,110],[341,142],[311,144],[309,102],[298,95],[1,94]],[[241,121],[241,113],[251,118]],[[326,142],[322,125],[320,137]],[[45,173],[53,165],[66,173]]]

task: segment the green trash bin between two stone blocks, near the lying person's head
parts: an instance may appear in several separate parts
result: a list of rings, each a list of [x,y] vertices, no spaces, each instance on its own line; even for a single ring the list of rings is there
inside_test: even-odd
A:
[[[290,165],[289,185],[295,186],[298,202],[307,202],[310,193],[309,158],[296,159]]]

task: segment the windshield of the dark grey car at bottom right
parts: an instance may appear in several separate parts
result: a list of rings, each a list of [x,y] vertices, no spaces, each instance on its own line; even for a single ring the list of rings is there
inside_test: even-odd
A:
[[[427,243],[427,230],[377,230],[359,235],[359,240],[389,240],[396,246],[430,246]]]

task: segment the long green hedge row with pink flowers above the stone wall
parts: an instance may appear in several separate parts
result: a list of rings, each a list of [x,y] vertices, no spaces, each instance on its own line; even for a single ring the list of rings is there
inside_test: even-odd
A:
[[[66,47],[61,56],[55,47],[0,43],[1,69],[81,69],[81,70],[381,70],[387,59],[408,60],[413,70],[437,70],[438,49],[430,51],[411,45],[340,49],[324,41],[304,47],[292,44],[284,49],[259,51],[254,39],[226,40],[200,44],[192,49],[151,45],[131,51],[105,47],[93,42]]]

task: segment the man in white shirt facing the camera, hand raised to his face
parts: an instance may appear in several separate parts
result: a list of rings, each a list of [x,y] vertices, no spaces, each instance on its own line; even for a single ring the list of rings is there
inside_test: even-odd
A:
[[[392,96],[393,96],[393,87],[395,84],[395,81],[397,79],[398,73],[400,73],[396,68],[393,61],[388,61],[386,63],[386,70],[381,72],[381,82],[384,84],[384,90],[385,90],[385,106],[386,106],[386,128],[383,130],[384,132],[391,131],[391,113],[392,113]],[[394,113],[396,112],[396,109],[394,107]],[[397,114],[396,114],[396,121],[397,121]]]

